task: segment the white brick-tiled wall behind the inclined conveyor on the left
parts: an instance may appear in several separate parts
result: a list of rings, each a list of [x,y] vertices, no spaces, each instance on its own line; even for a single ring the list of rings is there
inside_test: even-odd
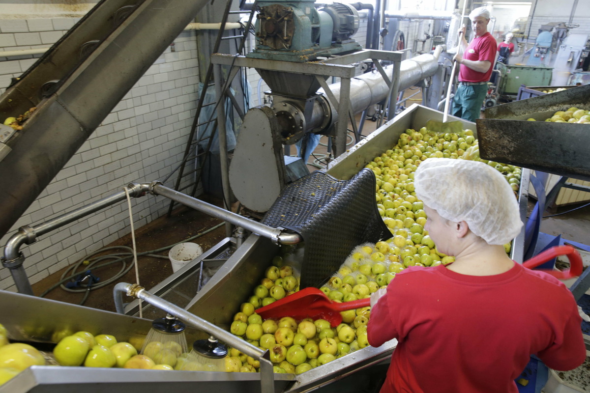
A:
[[[0,50],[48,47],[77,20],[0,19]],[[175,40],[175,52],[166,49],[137,81],[21,219],[0,239],[2,249],[22,225],[37,225],[96,202],[122,191],[130,181],[163,179],[178,166],[198,98],[195,34],[192,31],[179,35]],[[0,93],[6,90],[12,77],[21,75],[35,60],[27,55],[6,61],[0,54]],[[174,175],[166,186],[172,186],[175,180]],[[132,206],[136,229],[168,210],[167,200],[155,196],[132,198]],[[107,207],[22,247],[25,270],[31,283],[35,283],[129,232],[126,202]],[[9,270],[5,268],[0,268],[0,289],[15,290]]]

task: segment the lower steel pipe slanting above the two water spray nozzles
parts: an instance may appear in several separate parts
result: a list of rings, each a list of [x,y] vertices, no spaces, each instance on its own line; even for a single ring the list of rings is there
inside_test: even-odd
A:
[[[205,321],[205,319],[199,318],[198,316],[186,311],[185,309],[176,306],[175,304],[168,302],[162,298],[159,298],[152,293],[149,293],[145,288],[139,285],[131,285],[129,283],[120,283],[115,286],[119,292],[126,292],[127,296],[133,296],[137,299],[141,299],[150,305],[165,311],[176,318],[182,319],[187,325],[192,326],[196,329],[204,331],[209,335],[225,342],[232,346],[232,348],[239,349],[242,353],[252,356],[260,361],[260,384],[261,392],[271,393],[274,392],[274,378],[273,378],[273,363],[270,361],[270,355],[268,350],[258,348],[250,344],[247,341],[232,335],[232,333],[225,331],[219,326],[214,325],[211,322]]]

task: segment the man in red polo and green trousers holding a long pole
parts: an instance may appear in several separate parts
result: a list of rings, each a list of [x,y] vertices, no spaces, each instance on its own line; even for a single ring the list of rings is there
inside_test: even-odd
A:
[[[487,82],[496,61],[496,39],[487,31],[490,11],[479,7],[469,14],[475,37],[467,44],[466,27],[461,28],[461,51],[454,60],[459,66],[459,87],[453,100],[453,115],[468,121],[480,117],[481,105],[486,98]]]

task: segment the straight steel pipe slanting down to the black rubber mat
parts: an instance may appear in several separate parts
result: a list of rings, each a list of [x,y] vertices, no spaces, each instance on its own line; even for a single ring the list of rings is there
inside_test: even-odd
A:
[[[193,198],[179,191],[169,189],[158,181],[151,183],[149,185],[149,189],[150,193],[154,195],[166,197],[175,202],[191,207],[192,209],[199,210],[199,212],[207,213],[236,226],[244,227],[244,229],[247,229],[250,232],[254,232],[257,235],[273,240],[274,243],[295,245],[302,241],[301,236],[299,236],[297,233],[288,233],[284,228],[273,228],[260,222],[250,220],[244,216],[240,216],[240,214],[230,212],[229,210],[225,210],[213,204],[203,202],[202,200]]]

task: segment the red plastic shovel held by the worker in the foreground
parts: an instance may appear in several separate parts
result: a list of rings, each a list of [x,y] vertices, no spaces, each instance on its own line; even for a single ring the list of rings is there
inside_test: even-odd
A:
[[[582,274],[582,257],[572,246],[555,246],[543,251],[523,263],[523,266],[533,269],[555,258],[558,255],[568,256],[570,267],[568,270],[539,269],[549,273],[558,279],[568,279]],[[352,302],[337,303],[330,300],[321,290],[317,288],[304,288],[293,295],[261,307],[256,313],[262,318],[280,319],[283,316],[291,316],[298,321],[304,318],[326,319],[332,327],[342,323],[340,312],[370,305],[371,299],[359,299]]]

